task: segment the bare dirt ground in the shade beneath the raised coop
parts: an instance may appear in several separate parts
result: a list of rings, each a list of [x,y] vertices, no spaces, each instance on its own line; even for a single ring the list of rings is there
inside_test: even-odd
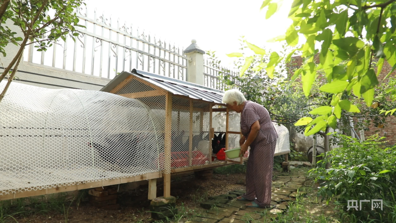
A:
[[[276,173],[275,173],[276,174]],[[197,179],[194,175],[175,178],[171,183],[171,194],[177,198],[179,212],[192,213],[199,207],[199,202],[208,196],[227,193],[232,190],[245,189],[245,174],[220,175],[213,174],[212,179]],[[157,196],[161,196],[162,186],[159,184]],[[14,216],[20,223],[109,223],[109,222],[150,222],[147,186],[131,192],[120,193],[118,196],[119,210],[103,210],[95,208],[88,201],[81,202],[78,210],[75,204],[68,208],[67,216],[61,212],[41,212],[31,216]]]

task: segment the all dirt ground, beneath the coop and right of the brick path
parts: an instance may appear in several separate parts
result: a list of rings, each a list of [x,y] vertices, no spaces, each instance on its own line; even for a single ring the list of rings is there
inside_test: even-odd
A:
[[[307,168],[296,168],[287,175],[306,174]],[[278,175],[284,175],[280,171],[274,170],[274,179]],[[157,183],[157,196],[162,195],[162,183]],[[233,190],[245,190],[245,174],[213,174],[212,179],[203,180],[197,179],[195,175],[185,177],[174,177],[171,183],[171,195],[177,198],[176,206],[179,210],[180,222],[188,221],[200,209],[199,204],[206,201],[210,196],[226,194]],[[308,196],[304,198],[306,202],[306,212],[315,220],[320,215],[325,216],[324,222],[337,222],[333,205],[324,205],[318,202],[316,198],[317,186],[313,180],[308,180],[305,183],[305,188],[308,188]],[[103,210],[91,206],[88,201],[82,201],[77,208],[75,201],[69,207],[70,203],[60,204],[61,207],[65,205],[65,209],[58,211],[35,211],[30,215],[14,215],[15,221],[10,222],[20,223],[148,223],[152,222],[151,213],[149,212],[149,200],[147,200],[147,185],[142,185],[136,190],[119,193],[118,203],[120,208],[118,210]],[[59,204],[58,204],[59,205]],[[30,210],[30,207],[25,207]],[[63,211],[65,210],[65,211]],[[66,214],[64,214],[66,213]],[[304,217],[308,213],[291,213]],[[287,215],[286,213],[284,215]],[[298,217],[297,219],[303,220]],[[279,219],[280,220],[280,219]],[[1,222],[1,221],[0,221]],[[281,220],[279,222],[282,222]],[[295,222],[295,221],[293,221]],[[300,221],[296,221],[300,222]],[[303,221],[305,222],[305,221]],[[323,222],[323,221],[312,221]]]

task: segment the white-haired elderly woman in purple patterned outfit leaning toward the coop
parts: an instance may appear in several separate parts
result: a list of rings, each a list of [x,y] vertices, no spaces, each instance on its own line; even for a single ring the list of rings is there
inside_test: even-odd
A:
[[[271,183],[273,154],[278,138],[268,111],[235,89],[227,90],[223,103],[229,109],[241,113],[241,131],[239,141],[241,155],[250,147],[246,171],[246,194],[238,200],[252,201],[249,207],[266,208],[271,202]]]

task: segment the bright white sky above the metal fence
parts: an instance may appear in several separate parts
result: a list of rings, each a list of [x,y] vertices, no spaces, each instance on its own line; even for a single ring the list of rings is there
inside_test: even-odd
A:
[[[280,50],[279,43],[267,40],[283,35],[292,21],[287,18],[292,0],[281,1],[278,11],[265,19],[262,0],[86,0],[88,17],[104,12],[113,22],[133,24],[151,35],[187,48],[195,39],[204,51],[216,51],[223,66],[232,58],[225,54],[237,52],[238,39],[245,38],[260,47]],[[301,40],[301,38],[300,38]]]

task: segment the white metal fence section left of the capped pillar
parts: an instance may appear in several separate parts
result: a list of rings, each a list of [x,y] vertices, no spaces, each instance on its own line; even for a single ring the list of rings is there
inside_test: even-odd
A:
[[[79,8],[77,27],[80,34],[60,40],[46,52],[37,52],[34,45],[25,49],[24,61],[81,74],[114,78],[133,68],[186,80],[187,60],[180,49],[126,23],[112,18],[88,16],[87,8]],[[114,24],[115,23],[115,24]]]

